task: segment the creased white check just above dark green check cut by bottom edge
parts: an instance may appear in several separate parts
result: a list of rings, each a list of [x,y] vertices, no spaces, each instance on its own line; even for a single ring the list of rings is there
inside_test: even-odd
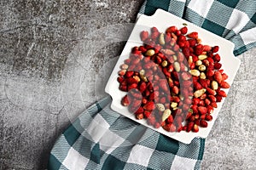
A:
[[[108,130],[106,133],[104,133],[104,136],[102,137],[102,139],[100,139],[99,143],[101,150],[104,150],[106,153],[110,154],[124,141],[125,139]]]

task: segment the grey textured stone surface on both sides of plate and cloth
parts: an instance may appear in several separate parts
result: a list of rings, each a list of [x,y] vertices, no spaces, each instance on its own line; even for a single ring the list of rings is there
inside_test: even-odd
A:
[[[104,96],[142,3],[0,1],[0,169],[46,168],[62,130]],[[202,169],[256,169],[255,55],[238,57]]]

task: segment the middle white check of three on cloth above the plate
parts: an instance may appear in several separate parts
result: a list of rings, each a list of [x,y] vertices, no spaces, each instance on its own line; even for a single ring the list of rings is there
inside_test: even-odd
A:
[[[230,20],[226,26],[226,28],[233,30],[237,33],[239,33],[239,31],[241,31],[241,29],[247,25],[247,22],[249,21],[249,17],[247,16],[247,14],[241,12],[240,10],[237,10],[236,8],[234,8],[231,16],[230,16]]]

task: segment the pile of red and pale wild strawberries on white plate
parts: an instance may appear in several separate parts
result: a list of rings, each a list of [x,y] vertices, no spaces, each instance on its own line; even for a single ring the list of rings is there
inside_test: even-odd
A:
[[[221,69],[218,46],[201,44],[197,32],[170,26],[166,33],[156,27],[141,32],[143,46],[134,47],[120,65],[119,89],[126,94],[121,104],[137,119],[169,132],[198,132],[212,121],[230,88]]]

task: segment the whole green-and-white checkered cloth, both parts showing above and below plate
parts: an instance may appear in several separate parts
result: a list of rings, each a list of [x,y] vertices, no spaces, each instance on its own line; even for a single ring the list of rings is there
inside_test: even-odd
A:
[[[239,55],[256,46],[255,0],[148,0],[140,14],[157,8],[176,14],[235,43]],[[107,97],[90,106],[57,139],[53,169],[200,169],[205,139],[170,139],[109,107]]]

